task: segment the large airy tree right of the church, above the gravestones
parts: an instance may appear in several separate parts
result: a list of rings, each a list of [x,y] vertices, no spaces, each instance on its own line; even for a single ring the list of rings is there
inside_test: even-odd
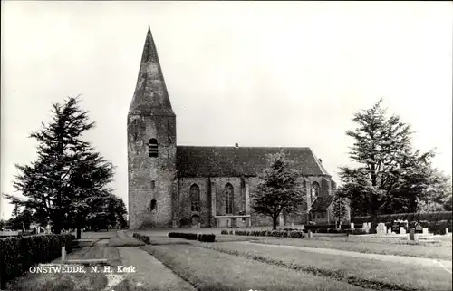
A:
[[[339,195],[351,200],[354,215],[413,212],[430,183],[434,152],[413,150],[410,125],[397,115],[387,117],[382,100],[354,114],[357,123],[346,135],[354,143],[349,153],[358,167],[341,167]]]

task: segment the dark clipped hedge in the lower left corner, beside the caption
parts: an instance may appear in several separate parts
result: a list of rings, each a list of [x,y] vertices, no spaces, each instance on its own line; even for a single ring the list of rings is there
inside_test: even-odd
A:
[[[5,289],[6,282],[24,275],[30,267],[61,257],[63,246],[67,253],[72,252],[73,239],[71,234],[0,238],[0,288]]]

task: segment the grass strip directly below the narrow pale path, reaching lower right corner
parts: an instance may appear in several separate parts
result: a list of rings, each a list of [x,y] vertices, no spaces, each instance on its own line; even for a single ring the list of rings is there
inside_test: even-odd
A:
[[[200,244],[236,256],[333,276],[353,285],[380,290],[451,290],[451,275],[442,267],[371,260],[369,258],[324,255],[299,249],[246,243]]]

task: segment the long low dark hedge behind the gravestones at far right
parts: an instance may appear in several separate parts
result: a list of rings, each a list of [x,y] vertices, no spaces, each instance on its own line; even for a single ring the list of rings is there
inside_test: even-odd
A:
[[[452,220],[452,211],[439,211],[427,213],[399,213],[399,214],[386,214],[378,216],[378,222],[393,222],[394,220],[408,220],[408,221],[439,221],[439,220]],[[351,219],[352,222],[371,222],[371,216],[356,217]]]

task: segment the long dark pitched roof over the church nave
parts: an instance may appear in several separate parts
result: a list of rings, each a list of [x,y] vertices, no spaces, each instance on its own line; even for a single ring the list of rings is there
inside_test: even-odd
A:
[[[304,176],[330,176],[310,148],[178,146],[178,177],[256,176],[267,167],[266,155],[281,150]]]

